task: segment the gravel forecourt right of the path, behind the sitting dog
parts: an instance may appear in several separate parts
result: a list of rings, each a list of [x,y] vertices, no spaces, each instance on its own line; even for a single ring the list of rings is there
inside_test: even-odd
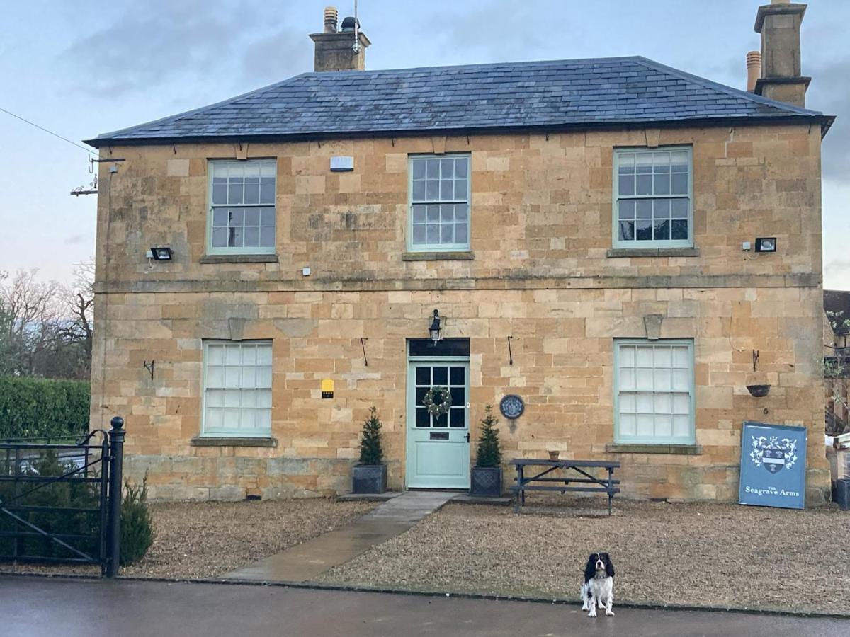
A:
[[[450,504],[320,581],[577,599],[587,555],[607,550],[617,600],[850,614],[850,516],[837,508],[619,500],[610,518],[590,513],[603,508]]]

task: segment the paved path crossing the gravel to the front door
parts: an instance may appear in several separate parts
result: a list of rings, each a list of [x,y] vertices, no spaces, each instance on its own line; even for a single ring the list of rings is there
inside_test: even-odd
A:
[[[224,579],[308,582],[320,573],[352,560],[375,544],[404,533],[455,496],[456,493],[445,491],[406,491],[378,505],[347,527],[238,568],[224,575]]]

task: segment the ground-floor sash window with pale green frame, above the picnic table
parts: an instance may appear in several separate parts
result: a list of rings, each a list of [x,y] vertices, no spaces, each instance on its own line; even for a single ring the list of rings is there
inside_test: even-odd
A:
[[[656,358],[662,348],[670,354],[669,365],[663,355]],[[651,380],[638,379],[640,370]],[[695,444],[695,392],[693,339],[615,339],[615,443]]]

